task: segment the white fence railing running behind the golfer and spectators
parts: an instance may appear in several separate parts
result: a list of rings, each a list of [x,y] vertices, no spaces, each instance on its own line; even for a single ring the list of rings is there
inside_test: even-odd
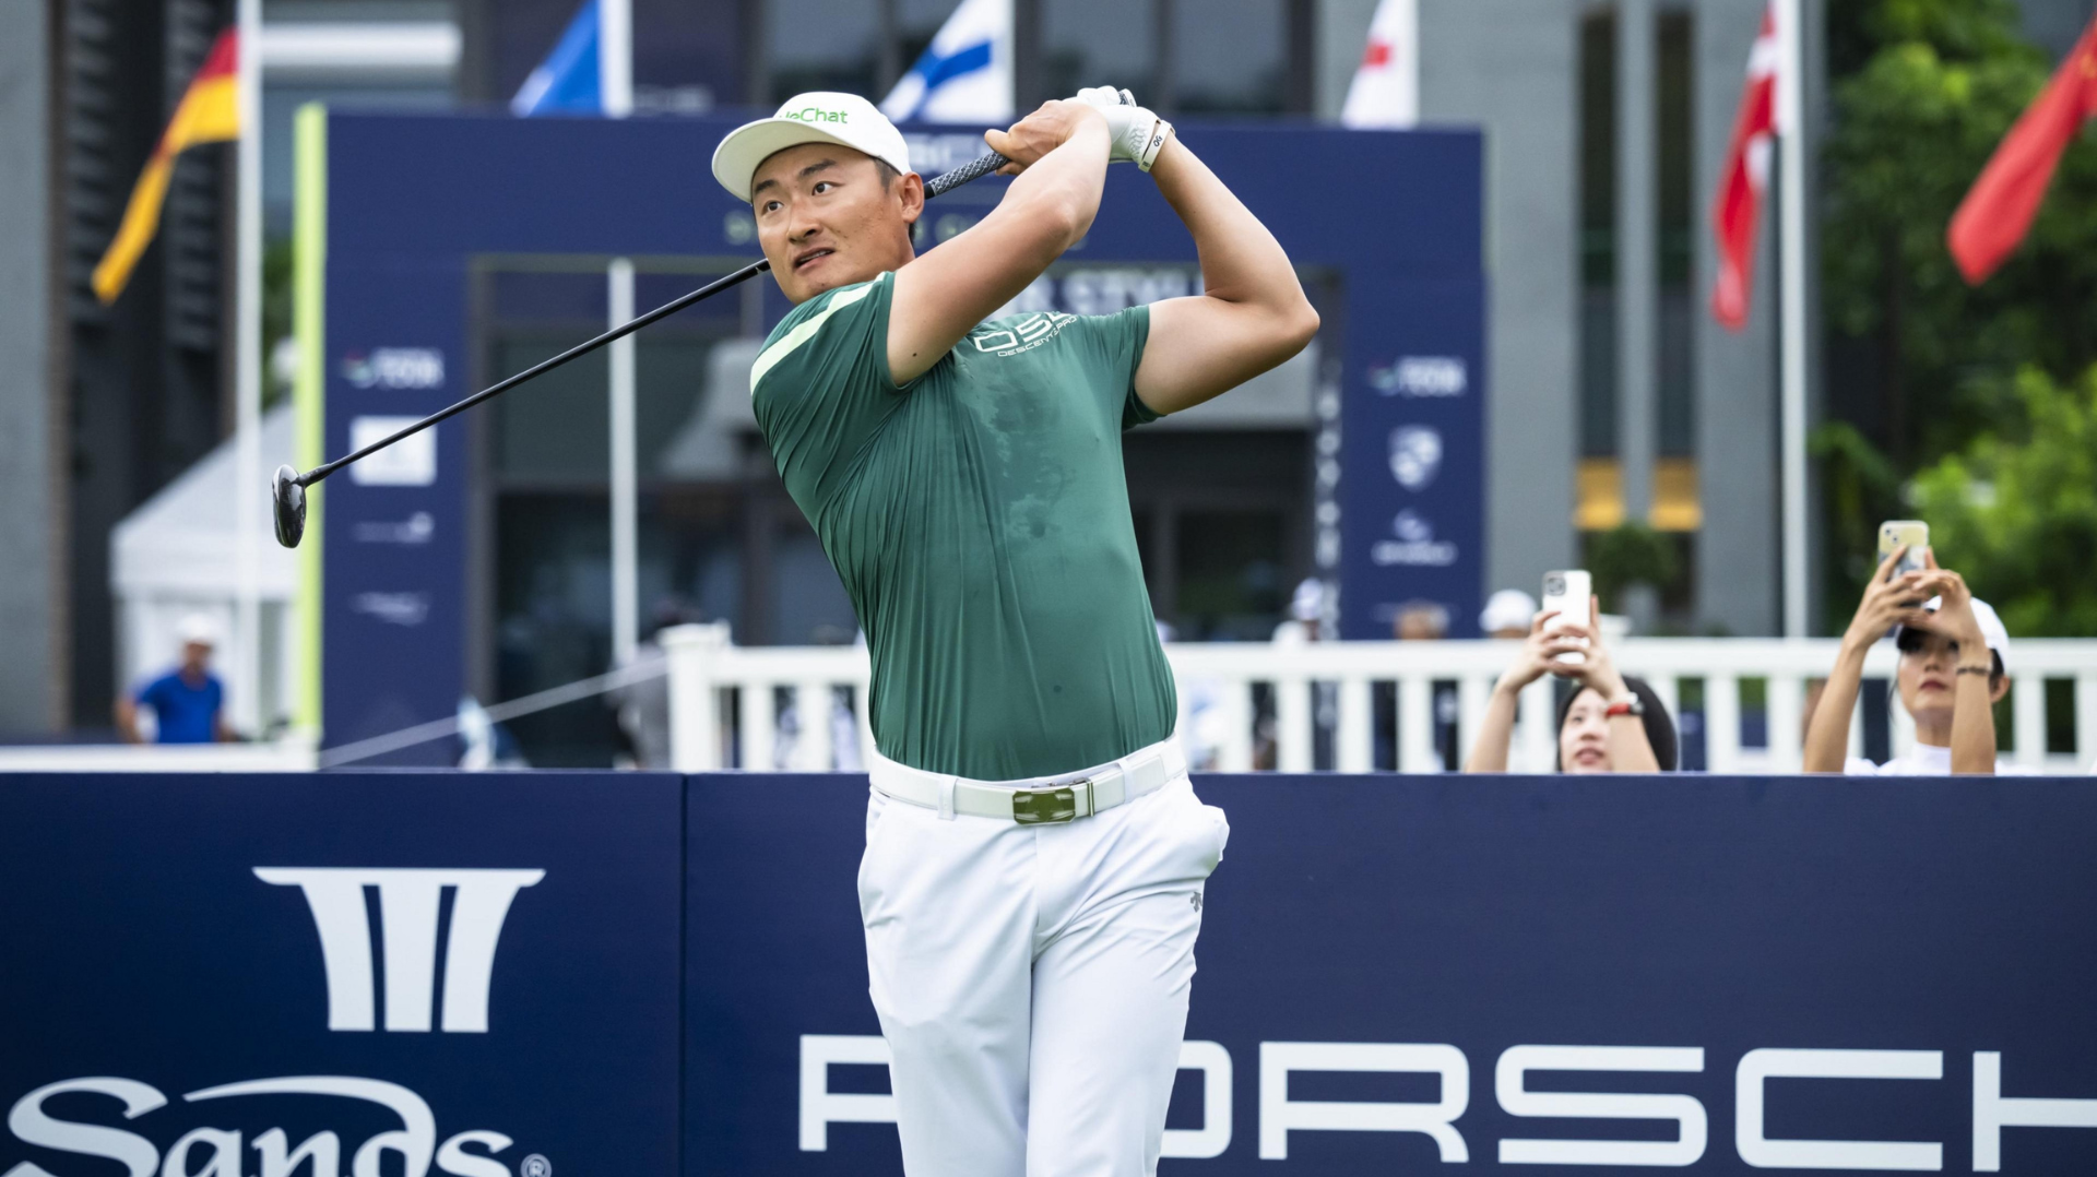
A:
[[[736,646],[726,625],[686,625],[669,650],[671,755],[677,770],[858,768],[866,728],[868,661],[849,646]],[[1701,743],[1709,772],[1797,772],[1808,682],[1826,676],[1837,642],[1778,638],[1629,638],[1617,665],[1652,684],[1686,743]],[[1197,766],[1220,772],[1277,768],[1340,772],[1445,768],[1436,734],[1455,728],[1462,762],[1514,642],[1210,642],[1168,644],[1179,678],[1181,736]],[[1866,680],[1889,680],[1896,652],[1883,644]],[[2011,753],[2047,772],[2082,772],[2097,759],[2097,640],[2017,640],[2011,667]],[[2066,680],[2072,751],[2049,751],[2047,682]],[[1390,684],[1378,690],[1380,684]],[[2055,690],[2055,697],[2061,697]],[[1390,703],[1380,705],[1380,697]],[[1701,699],[1684,715],[1684,699]],[[1868,699],[1868,694],[1866,694]],[[1864,722],[1850,724],[1862,751]],[[1395,718],[1380,722],[1384,711]],[[1915,741],[1889,699],[1891,749]],[[805,722],[814,715],[816,722]],[[1550,772],[1556,759],[1550,680],[1522,692],[1508,766]],[[1327,764],[1319,732],[1329,730]]]

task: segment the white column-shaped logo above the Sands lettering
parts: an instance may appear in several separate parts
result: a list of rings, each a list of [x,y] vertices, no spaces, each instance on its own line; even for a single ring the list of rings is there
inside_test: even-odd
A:
[[[256,866],[256,877],[306,892],[321,932],[327,967],[327,1028],[373,1028],[371,921],[365,887],[380,890],[380,936],[386,961],[386,1028],[430,1030],[436,997],[436,913],[445,887],[451,938],[445,944],[445,1030],[489,1032],[489,982],[495,942],[510,900],[545,871],[392,871],[363,866]]]

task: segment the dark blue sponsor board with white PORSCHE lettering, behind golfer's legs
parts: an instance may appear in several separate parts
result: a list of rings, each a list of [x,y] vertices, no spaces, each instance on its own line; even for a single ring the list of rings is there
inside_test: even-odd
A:
[[[2032,1127],[2097,1127],[2089,783],[1195,789],[1233,833],[1168,1173],[2097,1169]],[[900,1173],[860,797],[694,783],[692,1175]]]

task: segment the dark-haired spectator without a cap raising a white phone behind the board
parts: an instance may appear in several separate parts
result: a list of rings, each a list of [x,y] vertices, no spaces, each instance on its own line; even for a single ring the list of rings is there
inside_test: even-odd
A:
[[[1600,613],[1600,602],[1590,604],[1590,617]],[[1545,673],[1577,684],[1558,707],[1560,772],[1671,772],[1676,724],[1661,697],[1646,682],[1617,673],[1600,627],[1575,621],[1552,625],[1556,617],[1558,611],[1537,613],[1522,652],[1493,684],[1464,772],[1508,770],[1508,743],[1514,739],[1522,688]],[[1560,655],[1577,655],[1579,661],[1558,661]]]

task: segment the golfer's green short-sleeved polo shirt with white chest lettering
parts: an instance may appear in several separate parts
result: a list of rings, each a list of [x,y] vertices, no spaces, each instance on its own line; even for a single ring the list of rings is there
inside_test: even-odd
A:
[[[872,648],[889,759],[975,780],[1172,734],[1122,474],[1149,308],[1013,315],[889,380],[895,275],[797,306],[751,369],[757,424]]]

